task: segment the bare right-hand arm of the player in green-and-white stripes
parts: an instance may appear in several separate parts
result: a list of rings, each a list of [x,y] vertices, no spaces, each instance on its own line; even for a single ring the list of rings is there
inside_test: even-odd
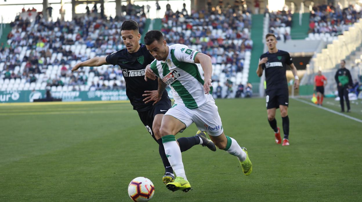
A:
[[[204,90],[205,94],[209,94],[211,86],[212,63],[211,57],[204,53],[198,52],[195,56],[195,63],[201,64],[204,71]]]

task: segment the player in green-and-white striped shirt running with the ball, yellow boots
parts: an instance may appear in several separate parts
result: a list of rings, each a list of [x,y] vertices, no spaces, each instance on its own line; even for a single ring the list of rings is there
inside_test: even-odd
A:
[[[167,46],[162,33],[156,30],[147,32],[144,42],[147,50],[156,59],[149,68],[146,68],[145,79],[146,77],[155,79],[153,73],[156,74],[159,83],[166,83],[171,87],[175,100],[175,104],[163,116],[160,128],[166,156],[177,176],[175,181],[169,182],[166,187],[172,191],[184,192],[191,189],[175,135],[192,123],[195,123],[199,130],[209,133],[210,139],[219,149],[236,156],[244,174],[250,175],[252,163],[247,150],[240,147],[235,139],[225,136],[218,107],[209,94],[211,58],[182,44]],[[204,80],[195,63],[201,64],[205,74]],[[163,89],[159,89],[159,92]]]

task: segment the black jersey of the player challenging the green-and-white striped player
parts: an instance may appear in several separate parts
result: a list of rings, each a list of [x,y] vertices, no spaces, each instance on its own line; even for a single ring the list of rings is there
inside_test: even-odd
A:
[[[145,45],[140,44],[140,48],[135,53],[129,53],[127,49],[111,53],[106,57],[106,62],[112,65],[119,65],[126,81],[126,95],[130,99],[133,109],[142,112],[152,108],[152,104],[145,104],[142,96],[146,90],[157,90],[158,81],[144,80],[144,71],[148,64],[151,64],[153,56],[147,51]],[[167,98],[167,91],[162,94],[162,98]]]

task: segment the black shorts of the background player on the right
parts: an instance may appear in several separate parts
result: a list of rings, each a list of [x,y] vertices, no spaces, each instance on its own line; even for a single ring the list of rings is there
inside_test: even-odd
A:
[[[289,106],[288,89],[273,89],[266,92],[266,109],[279,108],[279,105]]]

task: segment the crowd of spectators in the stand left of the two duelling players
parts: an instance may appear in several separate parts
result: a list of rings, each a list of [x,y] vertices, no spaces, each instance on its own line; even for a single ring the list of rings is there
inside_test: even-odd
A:
[[[0,63],[4,63],[1,74],[4,79],[21,78],[27,82],[36,82],[39,74],[44,74],[42,81],[47,82],[48,86],[87,85],[87,74],[84,69],[80,69],[77,74],[72,74],[70,70],[76,61],[89,59],[89,54],[65,47],[76,45],[90,48],[95,53],[94,56],[107,55],[120,50],[124,48],[120,28],[126,19],[137,21],[142,33],[146,22],[144,15],[114,19],[110,17],[109,20],[84,16],[75,18],[71,22],[60,20],[30,22],[27,19],[16,18],[10,24],[13,29],[8,34],[8,43],[5,46],[1,44],[0,47]],[[24,47],[28,54],[21,56]],[[60,57],[52,57],[59,53]],[[20,66],[23,68],[19,68]],[[61,68],[60,74],[47,75],[49,66]],[[89,72],[93,72],[94,76],[101,80],[116,80],[122,77],[121,70],[115,67],[104,71],[90,68]],[[124,82],[121,82],[121,85],[124,87]]]

